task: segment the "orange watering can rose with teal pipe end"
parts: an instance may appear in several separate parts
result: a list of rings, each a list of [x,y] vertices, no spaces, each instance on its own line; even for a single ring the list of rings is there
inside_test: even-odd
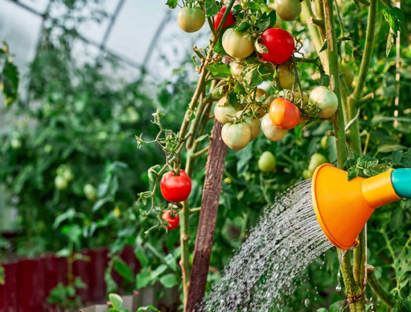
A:
[[[411,169],[348,181],[346,171],[323,164],[312,176],[311,197],[327,238],[340,249],[350,249],[375,208],[411,198]]]

